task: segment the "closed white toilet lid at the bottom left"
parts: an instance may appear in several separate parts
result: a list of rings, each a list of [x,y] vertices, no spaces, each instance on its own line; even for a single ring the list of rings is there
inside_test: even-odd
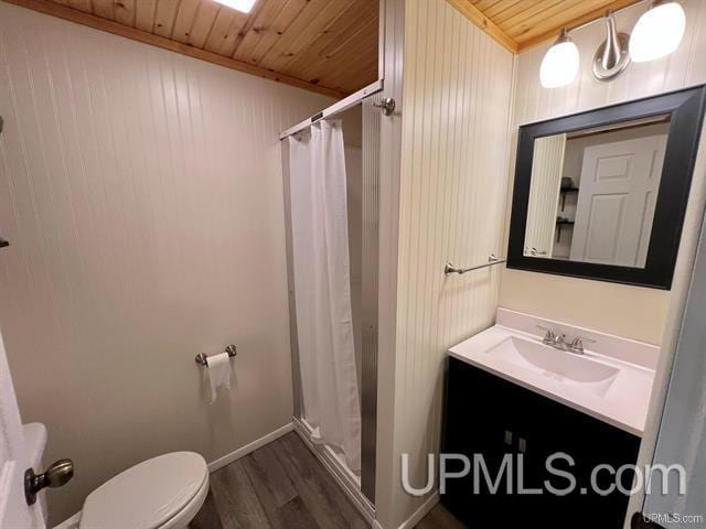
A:
[[[156,529],[196,495],[208,469],[193,452],[174,452],[118,474],[88,495],[79,529]]]

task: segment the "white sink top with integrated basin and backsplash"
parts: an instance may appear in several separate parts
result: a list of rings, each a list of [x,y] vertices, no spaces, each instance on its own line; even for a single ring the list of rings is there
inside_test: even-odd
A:
[[[587,336],[586,355],[542,343],[550,327]],[[660,347],[561,322],[498,310],[496,324],[449,349],[467,364],[634,435],[644,431]]]

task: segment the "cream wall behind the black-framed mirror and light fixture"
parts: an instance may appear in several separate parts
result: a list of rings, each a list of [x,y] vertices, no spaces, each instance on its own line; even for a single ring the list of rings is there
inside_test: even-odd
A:
[[[706,83],[706,2],[684,0],[686,34],[672,55],[649,63],[633,63],[617,79],[593,77],[591,61],[606,39],[602,21],[571,32],[581,56],[577,80],[555,89],[539,84],[539,65],[550,44],[518,56],[515,77],[514,142],[520,125],[580,112],[606,105]],[[640,3],[617,15],[619,31],[630,33],[644,12]],[[511,151],[514,165],[515,151]],[[699,185],[699,177],[695,175]],[[698,230],[699,223],[691,228]],[[689,237],[689,224],[685,226]],[[576,300],[581,300],[577,303]],[[610,303],[605,303],[610,300]],[[563,278],[518,270],[503,271],[500,304],[547,319],[592,327],[601,332],[660,344],[670,309],[670,292],[621,284]]]

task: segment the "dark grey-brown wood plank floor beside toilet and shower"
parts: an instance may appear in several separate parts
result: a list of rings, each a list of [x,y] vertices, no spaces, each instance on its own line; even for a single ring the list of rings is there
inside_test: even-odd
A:
[[[211,475],[190,529],[368,529],[370,525],[296,433]],[[440,505],[416,529],[467,529]]]

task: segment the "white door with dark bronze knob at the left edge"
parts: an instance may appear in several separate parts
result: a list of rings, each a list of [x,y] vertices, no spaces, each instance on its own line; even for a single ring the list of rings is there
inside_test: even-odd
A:
[[[0,527],[42,529],[39,504],[24,498],[24,471],[30,467],[22,434],[22,422],[12,386],[8,358],[0,335]]]

